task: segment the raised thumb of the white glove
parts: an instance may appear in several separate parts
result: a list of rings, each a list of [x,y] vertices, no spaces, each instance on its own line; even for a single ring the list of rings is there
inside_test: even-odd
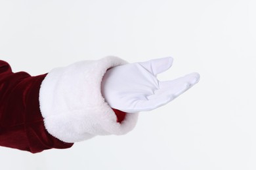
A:
[[[144,69],[148,70],[153,75],[158,75],[159,73],[163,73],[173,65],[173,58],[159,58],[152,59],[150,61],[140,62],[139,63]]]

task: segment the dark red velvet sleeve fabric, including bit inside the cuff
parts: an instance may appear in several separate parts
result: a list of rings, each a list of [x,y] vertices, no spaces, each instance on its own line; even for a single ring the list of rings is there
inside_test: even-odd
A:
[[[12,73],[10,65],[0,60],[0,146],[32,153],[51,148],[70,148],[47,132],[39,110],[39,89],[45,75]],[[117,122],[125,112],[113,109]]]

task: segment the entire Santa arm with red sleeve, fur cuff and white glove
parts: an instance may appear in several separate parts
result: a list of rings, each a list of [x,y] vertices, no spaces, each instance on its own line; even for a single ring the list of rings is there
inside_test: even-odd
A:
[[[109,56],[30,76],[0,61],[0,145],[36,153],[123,135],[135,127],[137,112],[165,105],[199,81],[198,73],[158,80],[172,62],[127,64]]]

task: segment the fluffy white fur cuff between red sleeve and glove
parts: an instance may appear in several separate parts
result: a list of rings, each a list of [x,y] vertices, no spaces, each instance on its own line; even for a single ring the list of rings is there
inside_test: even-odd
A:
[[[47,131],[66,143],[131,131],[137,123],[138,113],[126,114],[125,120],[118,123],[100,90],[106,70],[126,63],[108,56],[50,71],[39,91],[40,110]]]

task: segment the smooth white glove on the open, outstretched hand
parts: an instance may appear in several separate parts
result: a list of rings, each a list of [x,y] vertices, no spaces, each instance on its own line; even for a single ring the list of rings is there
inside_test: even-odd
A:
[[[102,79],[102,95],[110,107],[123,112],[156,109],[196,84],[200,75],[191,73],[175,80],[159,81],[156,75],[171,67],[173,58],[119,65]]]

